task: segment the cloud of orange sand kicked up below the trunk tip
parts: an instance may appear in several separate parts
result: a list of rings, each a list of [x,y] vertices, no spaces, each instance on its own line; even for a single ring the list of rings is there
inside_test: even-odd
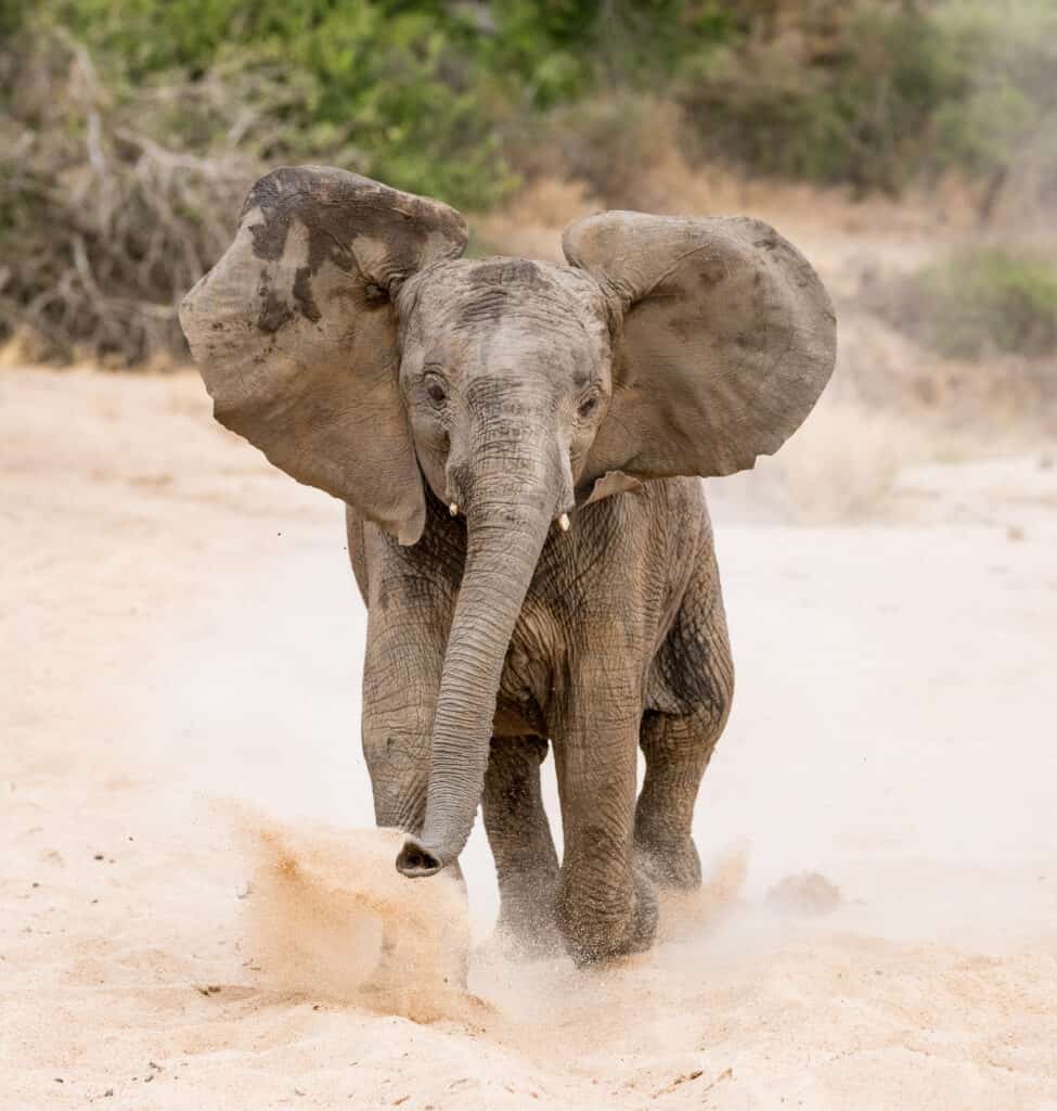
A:
[[[420,1022],[472,1017],[463,885],[397,873],[402,831],[225,810],[251,865],[245,932],[269,987]]]

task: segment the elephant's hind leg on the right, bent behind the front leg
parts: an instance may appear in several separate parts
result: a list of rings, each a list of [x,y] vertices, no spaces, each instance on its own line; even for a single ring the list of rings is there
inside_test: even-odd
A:
[[[701,885],[694,804],[734,693],[718,574],[712,560],[691,581],[654,660],[640,729],[646,775],[635,809],[635,849],[660,887]]]

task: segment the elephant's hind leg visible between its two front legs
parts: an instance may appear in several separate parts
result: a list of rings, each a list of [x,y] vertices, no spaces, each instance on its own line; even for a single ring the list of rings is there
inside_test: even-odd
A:
[[[543,809],[540,765],[547,742],[538,737],[493,738],[482,810],[500,888],[499,932],[522,955],[560,945],[554,921],[557,852]]]

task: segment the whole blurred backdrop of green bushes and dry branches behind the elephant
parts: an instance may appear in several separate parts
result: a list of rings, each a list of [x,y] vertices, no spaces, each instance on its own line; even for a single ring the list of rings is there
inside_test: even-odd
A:
[[[1054,0],[0,0],[0,339],[182,357],[179,298],[286,162],[471,213],[546,180],[677,208],[670,150],[853,200],[955,179],[980,227],[1053,212],[1055,73]],[[1057,348],[1030,251],[867,301],[958,358]]]

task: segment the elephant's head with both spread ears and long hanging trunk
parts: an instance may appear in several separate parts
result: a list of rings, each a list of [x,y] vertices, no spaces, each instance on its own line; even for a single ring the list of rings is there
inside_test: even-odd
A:
[[[514,624],[548,531],[640,481],[774,452],[833,369],[825,289],[767,224],[606,212],[570,266],[463,260],[457,212],[322,167],[250,192],[181,322],[218,420],[403,544],[435,497],[466,560],[425,822],[397,867],[455,860]]]

